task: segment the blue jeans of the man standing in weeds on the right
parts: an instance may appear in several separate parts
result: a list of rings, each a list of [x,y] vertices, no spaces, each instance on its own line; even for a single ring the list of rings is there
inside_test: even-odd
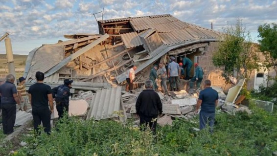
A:
[[[200,111],[199,113],[199,121],[200,121],[200,130],[205,129],[206,125],[210,127],[209,132],[213,132],[213,125],[214,125],[214,117],[215,113],[208,113]]]

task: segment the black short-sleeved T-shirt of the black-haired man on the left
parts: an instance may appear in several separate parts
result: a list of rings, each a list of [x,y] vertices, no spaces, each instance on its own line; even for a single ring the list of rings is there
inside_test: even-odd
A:
[[[32,109],[48,108],[47,94],[52,93],[50,86],[43,83],[35,83],[34,85],[30,86],[28,93],[32,95]]]

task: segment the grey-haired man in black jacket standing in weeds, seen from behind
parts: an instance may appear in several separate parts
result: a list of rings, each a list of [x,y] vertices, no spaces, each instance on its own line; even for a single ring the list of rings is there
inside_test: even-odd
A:
[[[157,118],[162,115],[162,102],[157,92],[153,90],[153,82],[148,80],[145,82],[145,90],[139,95],[136,102],[136,111],[140,117],[140,129],[144,129],[149,125],[153,134],[156,134]]]

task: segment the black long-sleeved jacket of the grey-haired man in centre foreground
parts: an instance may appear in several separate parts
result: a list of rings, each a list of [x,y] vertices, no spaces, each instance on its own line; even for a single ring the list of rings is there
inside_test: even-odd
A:
[[[159,111],[162,111],[162,102],[158,93],[153,89],[143,90],[138,95],[136,111],[142,116],[157,116]]]

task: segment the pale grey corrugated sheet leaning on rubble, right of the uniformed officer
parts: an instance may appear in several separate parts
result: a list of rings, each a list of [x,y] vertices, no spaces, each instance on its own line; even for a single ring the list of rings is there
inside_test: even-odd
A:
[[[115,111],[120,110],[121,87],[98,89],[92,97],[87,119],[95,120],[118,117]]]

